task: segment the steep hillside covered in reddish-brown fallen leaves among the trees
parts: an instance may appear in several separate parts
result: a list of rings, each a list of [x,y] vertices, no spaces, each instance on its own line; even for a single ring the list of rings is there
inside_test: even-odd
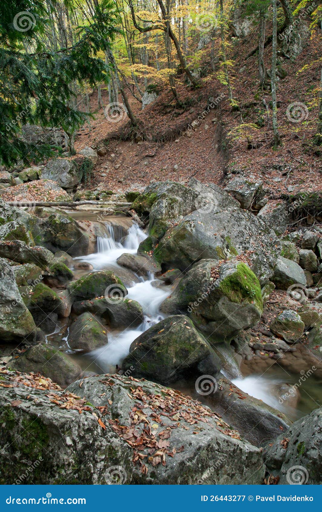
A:
[[[272,147],[272,109],[269,89],[261,91],[257,80],[257,55],[247,59],[256,46],[256,35],[235,41],[235,58],[231,75],[233,96],[239,110],[228,102],[227,88],[209,67],[210,48],[203,51],[202,87],[192,90],[177,80],[177,93],[185,105],[179,109],[172,94],[164,90],[156,101],[141,110],[141,104],[130,94],[131,107],[139,120],[143,141],[124,141],[115,133],[124,133],[128,118],[124,114],[111,122],[97,108],[97,94],[90,98],[95,120],[84,125],[76,136],[76,151],[84,146],[107,147],[99,157],[88,188],[98,183],[105,189],[123,191],[146,186],[151,181],[166,179],[185,181],[194,176],[203,182],[226,184],[233,174],[263,181],[264,187],[277,194],[296,194],[320,190],[321,160],[313,144],[316,133],[320,79],[321,37],[307,37],[304,49],[296,59],[278,56],[283,76],[278,80],[277,119],[282,145]],[[271,49],[265,53],[270,69]],[[307,66],[307,63],[310,63]],[[178,83],[179,82],[179,83]],[[314,93],[315,92],[315,93]],[[211,109],[195,129],[186,127],[204,111],[211,98],[223,95],[216,108]],[[210,98],[210,100],[209,100]],[[104,105],[108,93],[102,91]],[[122,102],[121,97],[119,101]],[[289,105],[299,102],[297,112]],[[267,105],[267,107],[266,107]],[[297,105],[294,106],[295,110]],[[289,109],[289,114],[288,114]],[[291,110],[290,110],[291,109]],[[300,119],[297,119],[297,115]]]

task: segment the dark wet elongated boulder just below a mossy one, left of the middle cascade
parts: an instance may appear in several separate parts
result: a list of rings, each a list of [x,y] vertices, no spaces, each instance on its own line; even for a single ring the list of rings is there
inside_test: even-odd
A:
[[[142,306],[129,298],[94,298],[92,301],[77,301],[73,304],[73,312],[77,315],[90,311],[108,323],[112,329],[138,327],[143,322]]]

